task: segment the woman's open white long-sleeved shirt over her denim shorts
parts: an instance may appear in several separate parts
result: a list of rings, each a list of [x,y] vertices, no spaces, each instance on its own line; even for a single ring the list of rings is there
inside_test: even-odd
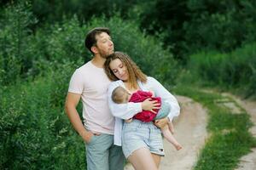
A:
[[[162,100],[165,100],[167,103],[171,105],[171,110],[168,115],[169,119],[172,121],[174,116],[178,116],[180,112],[180,107],[177,103],[177,99],[170,93],[166,88],[164,88],[160,82],[155,80],[153,77],[147,77],[148,81],[146,83],[138,81],[139,88],[143,91],[153,91],[155,97],[160,97]],[[123,120],[129,119],[132,116],[136,115],[138,112],[142,111],[142,103],[133,103],[129,102],[127,104],[116,104],[111,99],[111,95],[114,88],[117,87],[125,88],[124,82],[121,80],[111,82],[108,87],[108,106],[115,116],[115,125],[114,125],[114,144],[121,146],[121,134],[123,127]]]

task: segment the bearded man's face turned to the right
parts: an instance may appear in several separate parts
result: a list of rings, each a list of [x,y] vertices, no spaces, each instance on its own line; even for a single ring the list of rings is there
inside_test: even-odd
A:
[[[102,58],[107,58],[109,54],[113,54],[113,42],[106,32],[96,35],[96,48]]]

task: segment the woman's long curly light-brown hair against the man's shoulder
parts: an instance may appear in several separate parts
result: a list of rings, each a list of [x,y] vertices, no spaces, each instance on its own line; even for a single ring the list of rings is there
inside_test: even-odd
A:
[[[104,70],[111,81],[119,80],[119,78],[113,74],[113,71],[109,66],[111,61],[114,59],[120,59],[120,61],[126,66],[129,74],[129,88],[137,88],[137,80],[147,82],[147,76],[143,73],[143,71],[140,70],[136,63],[131,60],[129,55],[119,51],[110,54],[104,64]]]

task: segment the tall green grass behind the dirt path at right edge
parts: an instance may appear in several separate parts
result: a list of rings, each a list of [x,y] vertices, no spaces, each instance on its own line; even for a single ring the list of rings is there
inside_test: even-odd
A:
[[[224,88],[240,89],[246,96],[256,96],[256,43],[237,48],[232,53],[201,52],[190,56],[189,71]]]

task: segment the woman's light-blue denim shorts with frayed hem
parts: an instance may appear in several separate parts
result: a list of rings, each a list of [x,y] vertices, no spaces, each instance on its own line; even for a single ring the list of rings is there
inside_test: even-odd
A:
[[[136,119],[124,122],[122,149],[125,158],[140,148],[148,148],[151,153],[165,156],[160,128],[154,126],[153,122],[141,122]]]

